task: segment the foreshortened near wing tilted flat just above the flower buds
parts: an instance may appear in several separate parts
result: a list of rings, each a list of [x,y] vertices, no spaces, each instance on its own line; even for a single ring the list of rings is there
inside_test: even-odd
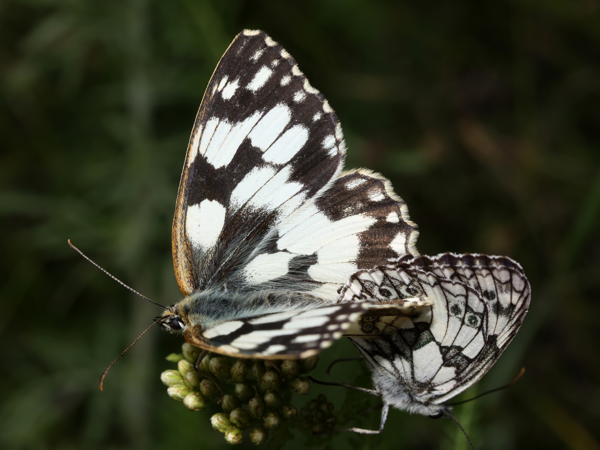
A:
[[[341,338],[370,302],[254,315],[185,332],[190,344],[235,357],[298,359],[317,354]]]

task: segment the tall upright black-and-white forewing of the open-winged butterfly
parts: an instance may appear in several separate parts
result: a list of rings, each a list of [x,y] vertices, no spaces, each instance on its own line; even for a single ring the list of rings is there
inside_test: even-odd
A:
[[[344,141],[331,107],[264,32],[217,65],[188,146],[173,219],[185,295],[223,284],[292,211],[331,186]]]

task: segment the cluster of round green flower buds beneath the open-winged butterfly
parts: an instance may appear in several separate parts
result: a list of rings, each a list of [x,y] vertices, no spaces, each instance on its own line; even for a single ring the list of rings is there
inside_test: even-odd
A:
[[[211,416],[211,425],[230,444],[241,443],[244,430],[250,431],[253,444],[265,443],[269,430],[295,419],[298,410],[290,404],[292,394],[308,394],[310,382],[301,374],[319,362],[319,356],[263,360],[208,353],[196,371],[194,363],[201,351],[183,344],[181,354],[167,356],[177,369],[164,371],[161,381],[170,397],[192,411],[202,411],[211,402],[220,405],[223,412]]]

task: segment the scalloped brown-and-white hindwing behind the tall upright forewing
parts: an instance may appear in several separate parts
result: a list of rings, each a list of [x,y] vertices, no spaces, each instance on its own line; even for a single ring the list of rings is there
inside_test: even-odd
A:
[[[416,254],[418,236],[389,181],[365,169],[338,175],[320,198],[286,217],[277,232],[271,254],[257,259],[289,258],[290,271],[269,287],[296,285],[329,301],[337,300],[340,287],[357,270]],[[262,266],[256,272],[264,278],[266,271]]]

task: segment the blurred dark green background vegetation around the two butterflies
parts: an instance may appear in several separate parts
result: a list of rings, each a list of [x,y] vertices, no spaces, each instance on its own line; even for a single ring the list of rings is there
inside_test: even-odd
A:
[[[0,448],[226,448],[208,410],[160,383],[182,338],[151,330],[98,391],[159,311],[67,239],[152,299],[180,298],[179,175],[212,70],[243,28],[295,56],[340,117],[347,168],[392,180],[422,254],[509,255],[526,270],[523,327],[461,398],[526,375],[455,410],[476,448],[600,449],[598,0],[1,0]],[[315,376],[334,354],[355,350],[338,342]],[[361,362],[329,380],[343,374],[365,382]],[[316,392],[343,408],[341,388]],[[467,444],[450,421],[394,410],[380,436],[286,445],[306,447]]]

